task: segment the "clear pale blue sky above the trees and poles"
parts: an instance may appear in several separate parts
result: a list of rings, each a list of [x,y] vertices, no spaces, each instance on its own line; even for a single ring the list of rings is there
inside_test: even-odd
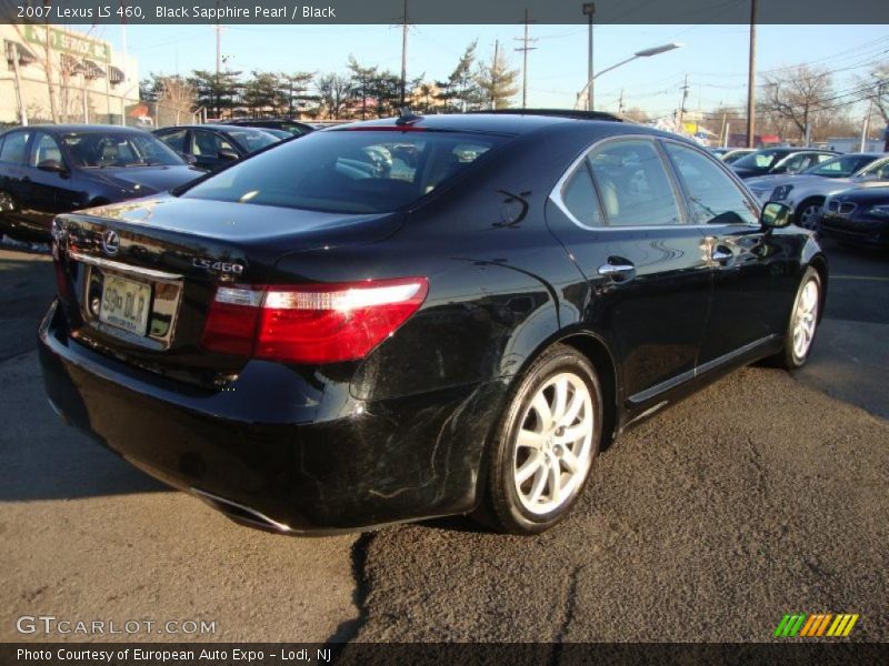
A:
[[[363,65],[399,72],[401,27],[394,21],[391,26],[226,26],[222,54],[227,68],[243,72],[344,72],[350,54]],[[413,26],[408,77],[446,78],[475,39],[486,59],[499,40],[510,64],[520,69],[521,53],[513,49],[520,46],[522,29],[519,24]],[[121,48],[120,26],[96,26],[91,32]],[[809,63],[835,72],[837,92],[853,88],[855,77],[867,77],[877,63],[889,62],[889,26],[759,26],[757,34],[759,72]],[[528,107],[572,108],[587,81],[587,27],[532,24],[530,37],[537,41],[528,60]],[[597,78],[599,110],[617,111],[622,91],[625,110],[640,107],[653,115],[672,114],[686,75],[687,109],[746,104],[747,26],[597,26],[593,41],[596,72],[641,49],[683,43],[681,49],[633,60]],[[149,72],[188,74],[216,68],[212,26],[130,26],[127,42],[142,78]],[[865,114],[862,104],[843,110],[852,117]]]

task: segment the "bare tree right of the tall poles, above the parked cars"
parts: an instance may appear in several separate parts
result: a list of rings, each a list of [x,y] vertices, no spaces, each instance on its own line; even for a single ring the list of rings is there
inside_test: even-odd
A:
[[[830,72],[801,64],[765,79],[760,111],[775,121],[787,121],[805,138],[826,113],[823,108],[832,94]]]

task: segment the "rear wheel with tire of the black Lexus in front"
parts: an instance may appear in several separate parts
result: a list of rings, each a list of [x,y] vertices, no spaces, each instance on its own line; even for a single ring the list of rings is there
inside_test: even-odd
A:
[[[582,494],[599,453],[602,392],[577,350],[553,345],[522,375],[493,440],[476,518],[512,534],[539,534]]]

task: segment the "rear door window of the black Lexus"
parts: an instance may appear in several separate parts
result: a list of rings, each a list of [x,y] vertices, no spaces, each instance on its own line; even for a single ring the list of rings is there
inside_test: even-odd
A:
[[[670,176],[649,140],[609,141],[587,157],[610,226],[679,224]]]

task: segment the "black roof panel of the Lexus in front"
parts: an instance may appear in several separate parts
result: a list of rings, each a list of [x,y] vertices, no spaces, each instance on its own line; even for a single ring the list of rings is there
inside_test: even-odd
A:
[[[566,113],[570,113],[566,111]],[[327,131],[339,131],[340,128],[372,128],[372,127],[391,127],[397,128],[396,118],[382,118],[379,120],[367,120],[344,125],[337,125]],[[501,134],[525,134],[539,130],[541,128],[560,125],[563,123],[597,123],[613,125],[613,120],[587,120],[578,118],[569,118],[567,115],[555,114],[539,114],[528,111],[510,113],[442,113],[433,115],[420,115],[417,120],[410,120],[404,123],[413,128],[423,128],[428,130],[438,131],[453,131],[453,132],[492,132]]]

